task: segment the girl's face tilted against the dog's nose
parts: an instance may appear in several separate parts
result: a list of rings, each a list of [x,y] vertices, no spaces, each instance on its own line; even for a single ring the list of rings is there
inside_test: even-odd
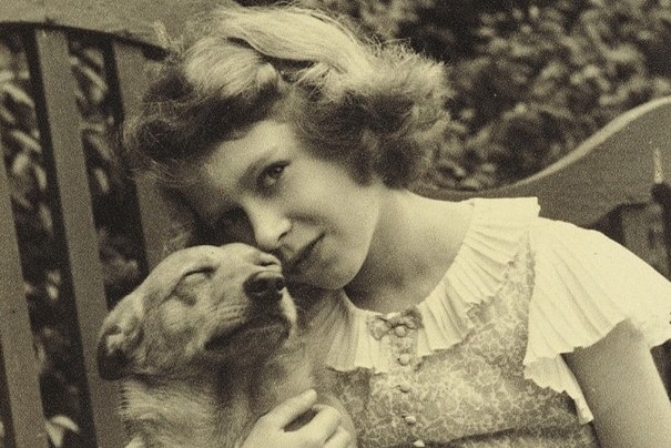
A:
[[[183,193],[218,242],[271,252],[289,281],[335,289],[368,256],[386,190],[314,155],[291,124],[263,120],[216,145]]]

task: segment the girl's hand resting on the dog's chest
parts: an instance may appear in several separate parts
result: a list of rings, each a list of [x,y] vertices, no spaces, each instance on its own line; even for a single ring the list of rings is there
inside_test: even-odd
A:
[[[313,415],[309,421],[296,429],[288,428],[307,413]],[[287,399],[261,417],[241,448],[267,448],[268,444],[296,448],[355,446],[340,413],[331,406],[317,405],[317,393],[312,389]]]

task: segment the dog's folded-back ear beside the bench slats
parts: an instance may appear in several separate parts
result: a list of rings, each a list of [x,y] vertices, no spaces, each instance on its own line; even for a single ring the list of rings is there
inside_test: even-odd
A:
[[[120,379],[138,360],[144,306],[139,292],[123,298],[104,319],[98,338],[98,373]]]

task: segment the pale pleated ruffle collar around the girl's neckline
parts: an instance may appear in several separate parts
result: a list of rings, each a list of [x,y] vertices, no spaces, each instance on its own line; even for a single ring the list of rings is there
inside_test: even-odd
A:
[[[520,248],[520,241],[531,220],[538,216],[535,197],[474,198],[472,218],[461,247],[443,279],[419,304],[403,313],[382,315],[356,307],[344,292],[327,297],[316,306],[314,328],[332,340],[326,365],[349,371],[366,368],[375,373],[389,370],[388,357],[370,320],[416,318],[417,355],[424,357],[464,340],[475,323],[469,310],[491,301],[506,271]]]

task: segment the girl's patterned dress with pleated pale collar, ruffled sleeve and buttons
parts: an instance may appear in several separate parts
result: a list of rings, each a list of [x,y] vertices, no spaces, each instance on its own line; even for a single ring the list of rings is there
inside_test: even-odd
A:
[[[359,446],[599,446],[560,354],[624,319],[650,346],[671,338],[670,283],[600,233],[539,217],[536,198],[468,203],[462,246],[417,306],[382,315],[343,292],[315,305]]]

